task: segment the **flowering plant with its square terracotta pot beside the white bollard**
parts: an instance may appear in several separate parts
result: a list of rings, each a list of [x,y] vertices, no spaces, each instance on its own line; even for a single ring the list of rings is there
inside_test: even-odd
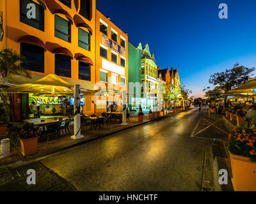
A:
[[[19,133],[22,156],[29,156],[37,152],[37,144],[40,134],[40,128],[33,123],[26,123],[22,126]]]

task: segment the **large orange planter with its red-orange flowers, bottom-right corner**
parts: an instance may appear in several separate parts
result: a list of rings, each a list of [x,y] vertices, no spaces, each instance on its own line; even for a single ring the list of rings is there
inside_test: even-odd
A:
[[[237,126],[228,136],[228,151],[232,168],[232,184],[235,191],[256,190],[256,128]]]

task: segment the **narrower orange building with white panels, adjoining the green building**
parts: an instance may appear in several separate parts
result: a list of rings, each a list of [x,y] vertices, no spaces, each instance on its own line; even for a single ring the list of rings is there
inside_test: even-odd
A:
[[[95,99],[96,113],[121,111],[121,92],[128,87],[128,36],[96,10],[96,84],[104,94]]]

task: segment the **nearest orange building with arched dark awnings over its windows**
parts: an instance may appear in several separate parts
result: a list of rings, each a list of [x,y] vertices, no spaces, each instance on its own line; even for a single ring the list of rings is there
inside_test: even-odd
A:
[[[1,0],[0,50],[12,48],[28,59],[31,82],[56,74],[93,91],[95,4],[95,0]],[[83,112],[94,113],[93,96],[87,95]]]

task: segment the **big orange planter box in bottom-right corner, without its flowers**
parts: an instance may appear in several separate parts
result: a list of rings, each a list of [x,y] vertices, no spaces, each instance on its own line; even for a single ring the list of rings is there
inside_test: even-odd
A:
[[[256,163],[250,158],[230,154],[233,178],[232,184],[235,191],[256,191]]]

